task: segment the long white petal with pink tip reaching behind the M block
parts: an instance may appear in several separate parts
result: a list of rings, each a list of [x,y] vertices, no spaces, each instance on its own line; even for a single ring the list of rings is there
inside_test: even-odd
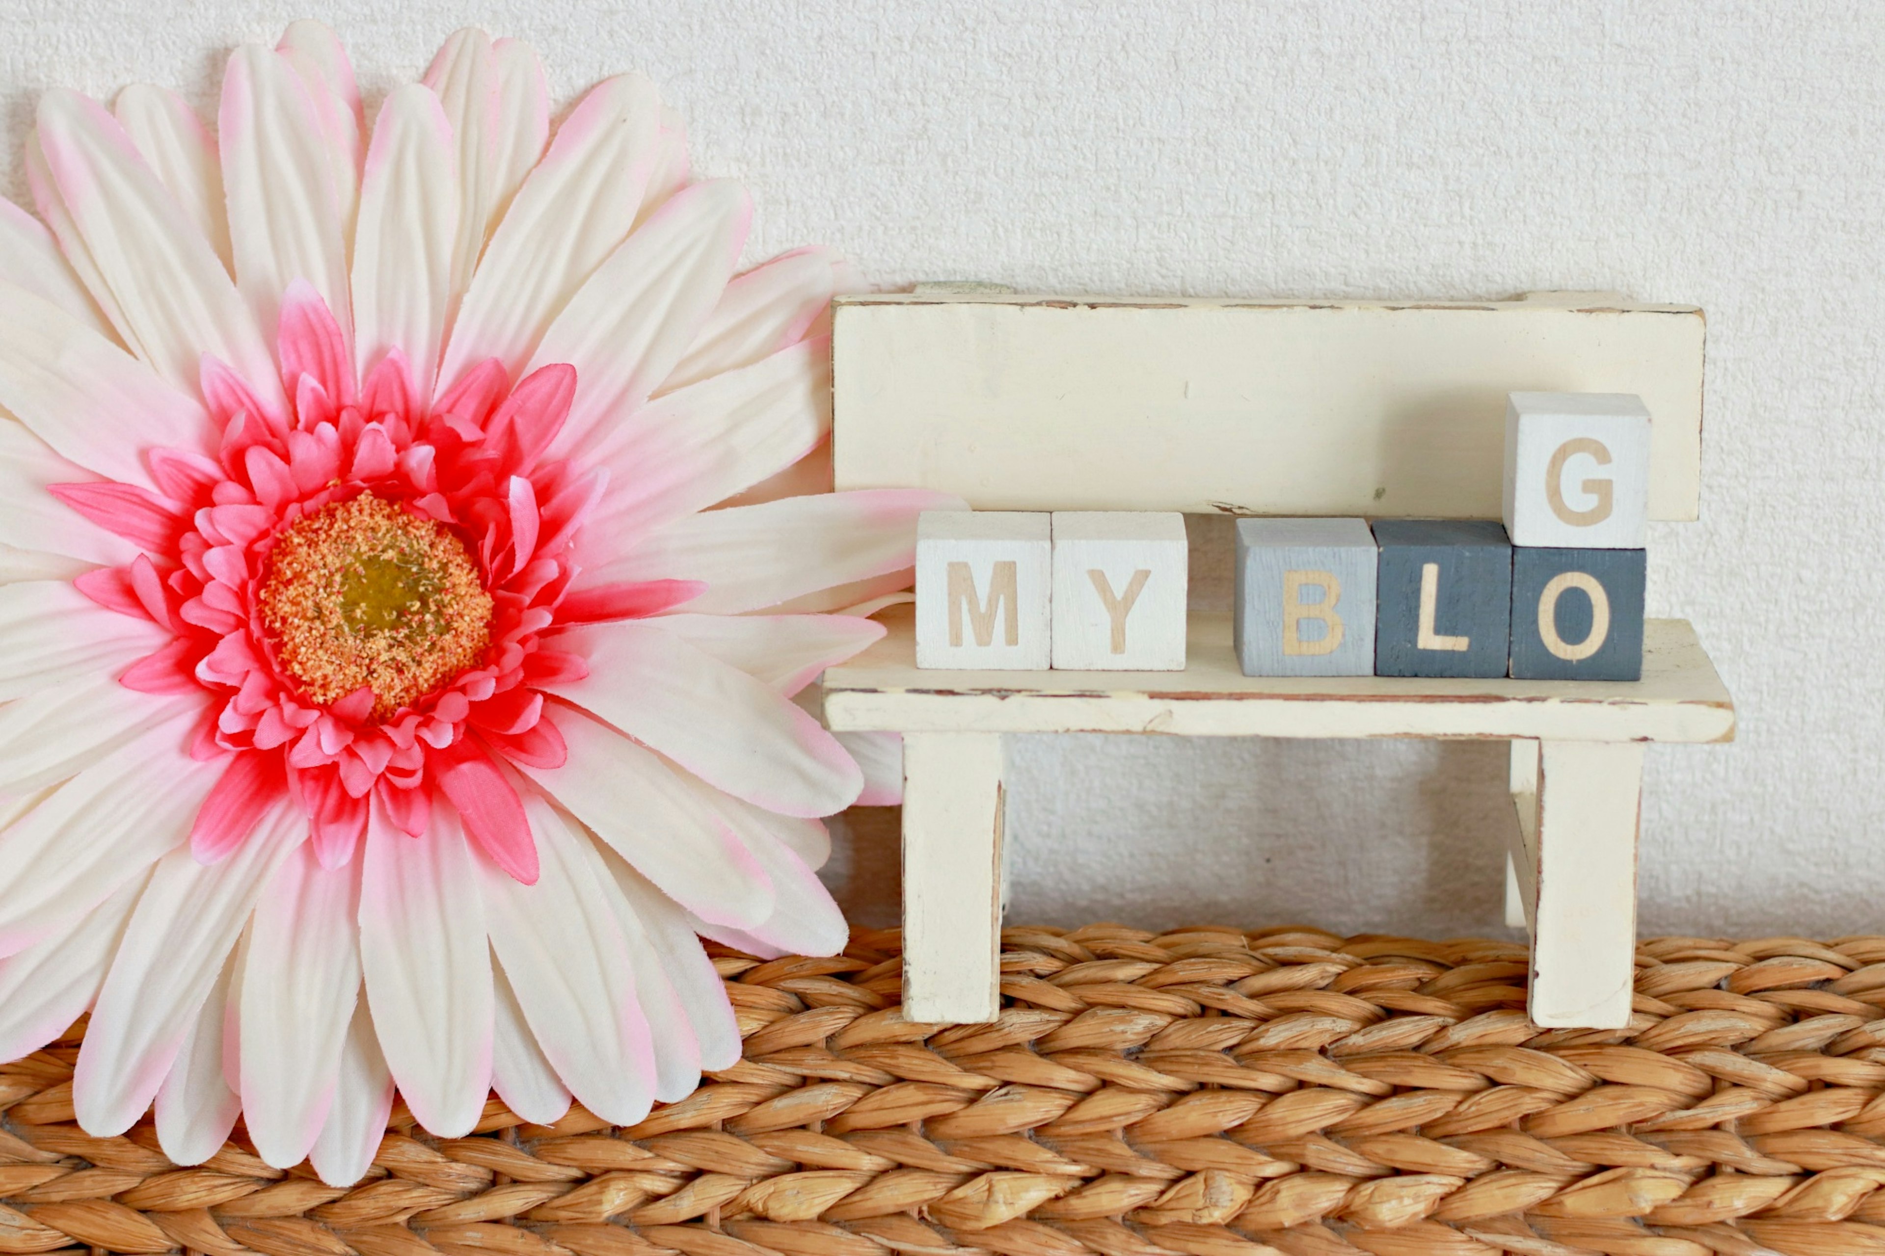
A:
[[[758,611],[912,566],[916,517],[961,505],[961,498],[926,488],[863,488],[733,505],[662,528],[628,554],[586,571],[577,587],[707,581],[707,592],[688,603],[690,611]]]

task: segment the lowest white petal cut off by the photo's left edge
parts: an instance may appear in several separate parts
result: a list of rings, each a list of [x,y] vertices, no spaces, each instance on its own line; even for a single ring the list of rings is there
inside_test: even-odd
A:
[[[0,1060],[30,1056],[92,1005],[143,881],[119,886],[70,930],[0,960]]]

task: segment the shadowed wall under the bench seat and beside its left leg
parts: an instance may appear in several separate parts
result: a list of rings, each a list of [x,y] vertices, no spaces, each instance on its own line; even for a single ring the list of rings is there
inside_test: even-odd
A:
[[[1502,741],[1029,735],[1007,785],[1010,922],[1510,935]],[[897,820],[833,822],[854,924],[897,922]]]

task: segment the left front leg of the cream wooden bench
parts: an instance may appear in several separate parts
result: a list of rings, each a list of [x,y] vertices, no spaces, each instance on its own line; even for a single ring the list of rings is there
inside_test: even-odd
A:
[[[1001,734],[903,735],[903,1016],[1001,1009]]]

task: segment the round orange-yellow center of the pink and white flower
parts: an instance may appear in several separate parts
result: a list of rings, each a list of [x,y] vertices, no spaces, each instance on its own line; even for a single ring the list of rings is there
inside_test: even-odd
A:
[[[307,698],[368,686],[373,719],[483,662],[490,609],[458,536],[373,494],[288,524],[260,590],[262,626]]]

